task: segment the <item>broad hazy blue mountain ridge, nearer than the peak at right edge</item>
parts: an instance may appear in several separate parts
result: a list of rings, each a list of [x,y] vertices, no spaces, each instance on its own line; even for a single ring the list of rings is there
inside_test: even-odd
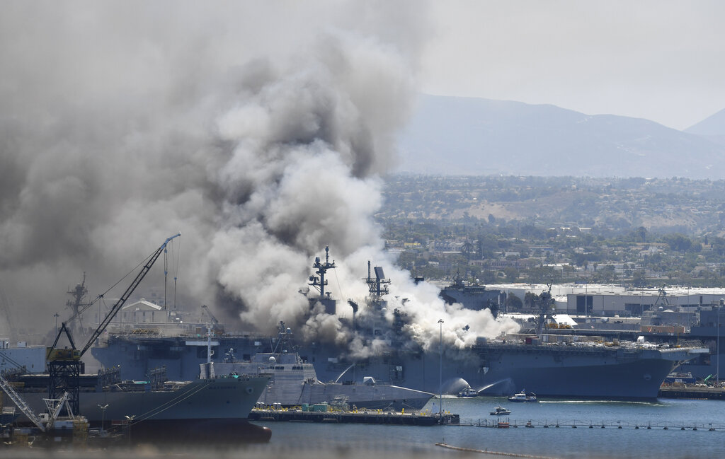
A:
[[[552,105],[421,96],[400,172],[719,178],[725,146],[647,119]]]

